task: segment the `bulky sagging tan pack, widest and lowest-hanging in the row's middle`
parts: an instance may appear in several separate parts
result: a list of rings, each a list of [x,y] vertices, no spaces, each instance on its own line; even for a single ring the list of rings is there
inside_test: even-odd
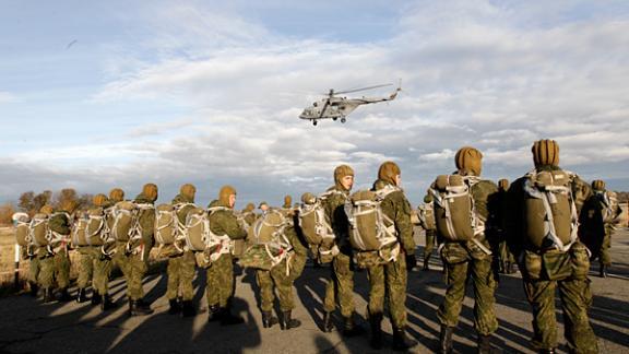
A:
[[[240,264],[271,270],[281,263],[293,250],[293,246],[284,234],[286,227],[289,226],[290,221],[281,210],[269,209],[249,228],[247,241],[250,246],[240,258]]]

